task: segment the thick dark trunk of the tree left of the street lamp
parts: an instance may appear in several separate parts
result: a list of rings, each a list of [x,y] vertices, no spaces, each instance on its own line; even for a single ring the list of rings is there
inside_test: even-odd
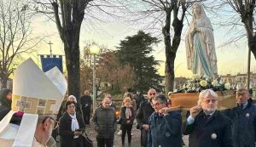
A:
[[[59,3],[51,3],[55,12],[55,23],[64,43],[67,66],[68,94],[74,95],[80,102],[80,50],[79,37],[82,21],[84,20],[85,6],[88,1],[59,1],[61,19],[59,17]],[[61,23],[62,21],[62,23]]]

